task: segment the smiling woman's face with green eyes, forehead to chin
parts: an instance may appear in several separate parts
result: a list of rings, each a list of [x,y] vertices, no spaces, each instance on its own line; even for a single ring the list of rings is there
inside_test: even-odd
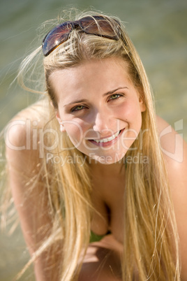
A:
[[[140,95],[122,59],[84,62],[50,76],[57,117],[78,150],[103,164],[120,161],[140,132]]]

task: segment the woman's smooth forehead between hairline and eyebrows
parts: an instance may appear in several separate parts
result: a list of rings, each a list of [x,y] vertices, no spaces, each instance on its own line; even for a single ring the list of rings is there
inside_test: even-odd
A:
[[[50,75],[50,84],[57,99],[72,94],[107,92],[129,83],[128,66],[122,59],[91,60]]]

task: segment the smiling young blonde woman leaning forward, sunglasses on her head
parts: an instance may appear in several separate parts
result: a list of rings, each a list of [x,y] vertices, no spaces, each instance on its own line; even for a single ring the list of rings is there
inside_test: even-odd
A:
[[[6,130],[36,280],[187,280],[186,144],[156,116],[123,25],[60,21],[20,80],[41,49],[47,97]]]

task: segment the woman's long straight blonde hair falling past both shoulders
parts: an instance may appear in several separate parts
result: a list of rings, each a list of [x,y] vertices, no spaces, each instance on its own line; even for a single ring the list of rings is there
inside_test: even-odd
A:
[[[121,261],[123,280],[180,280],[179,245],[167,172],[156,128],[153,96],[147,75],[139,55],[124,29],[113,17],[96,12],[81,13],[74,20],[86,15],[102,15],[110,22],[119,40],[111,40],[73,30],[68,41],[59,45],[44,58],[47,94],[57,108],[57,99],[50,85],[50,75],[56,69],[65,69],[89,59],[121,58],[128,66],[130,79],[141,94],[146,111],[142,113],[142,137],[138,136],[126,157],[137,154],[147,156],[149,163],[126,165],[126,189],[124,194],[124,255]],[[61,22],[61,19],[59,19]],[[99,27],[99,22],[97,22]],[[117,29],[120,26],[120,35]],[[40,48],[22,64],[21,75],[36,57]],[[46,94],[46,93],[45,93]],[[51,111],[51,126],[59,131],[59,124]],[[147,130],[148,129],[148,130]],[[60,132],[59,132],[60,134]],[[67,157],[85,157],[70,142],[66,133],[60,134],[64,150],[57,147],[53,153]],[[50,134],[47,139],[50,145]],[[142,142],[142,143],[141,143]],[[142,145],[143,144],[143,145]],[[73,147],[73,149],[72,149]],[[137,149],[133,150],[134,147]],[[46,154],[46,151],[44,151]],[[75,280],[80,271],[80,256],[89,245],[91,212],[91,180],[87,161],[49,166],[43,157],[43,173],[48,190],[53,229],[50,238],[40,247],[36,256],[55,240],[63,241],[61,280]],[[35,257],[36,257],[35,256]],[[33,259],[32,259],[33,260]]]

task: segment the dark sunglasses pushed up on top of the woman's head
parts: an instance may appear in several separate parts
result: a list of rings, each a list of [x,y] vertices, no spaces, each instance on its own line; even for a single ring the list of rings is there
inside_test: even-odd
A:
[[[117,22],[117,20],[114,21]],[[117,22],[117,24],[120,27],[119,22]],[[82,17],[80,20],[63,22],[62,24],[57,25],[57,27],[54,27],[43,39],[43,55],[47,57],[47,55],[50,55],[50,53],[61,45],[61,43],[67,41],[70,32],[73,31],[73,29],[83,31],[86,34],[110,38],[116,41],[119,40],[119,34],[112,29],[110,21],[105,17],[98,15],[93,17]]]

